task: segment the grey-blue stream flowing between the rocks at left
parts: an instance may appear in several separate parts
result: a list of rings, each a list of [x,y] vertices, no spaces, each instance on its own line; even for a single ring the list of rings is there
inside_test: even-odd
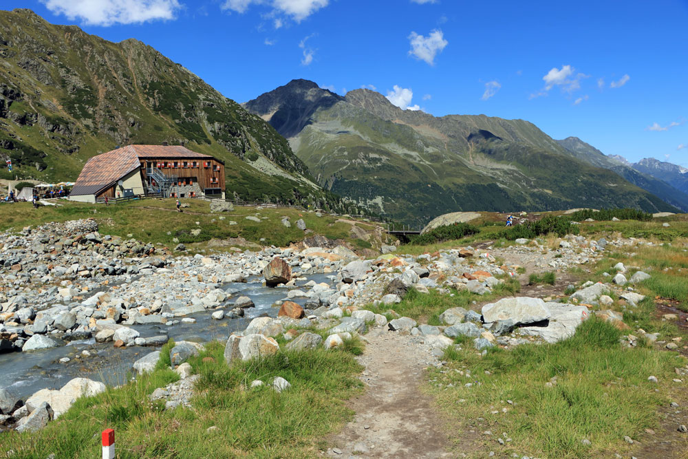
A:
[[[311,275],[308,280],[318,283],[327,282],[327,275]],[[307,280],[307,281],[308,281]],[[297,282],[303,286],[306,281]],[[247,296],[255,303],[255,308],[246,309],[246,317],[241,319],[211,319],[213,310],[189,314],[195,323],[178,323],[172,326],[164,324],[129,325],[137,330],[141,337],[153,337],[166,334],[175,341],[195,341],[204,343],[214,339],[226,340],[231,332],[244,330],[251,319],[261,314],[272,317],[277,315],[277,308],[272,308],[275,301],[284,299],[288,288],[267,288],[262,279],[250,279],[246,284],[225,284],[222,288],[235,292],[233,298]],[[295,303],[305,303],[305,298],[295,298]],[[230,305],[228,305],[230,306]],[[228,307],[229,308],[229,307]],[[180,320],[181,318],[175,318]],[[76,354],[87,350],[93,355],[86,359],[74,359]],[[66,346],[29,352],[12,352],[0,354],[0,387],[11,386],[22,398],[28,398],[34,392],[45,389],[59,389],[69,380],[77,377],[103,381],[108,385],[120,385],[127,380],[131,365],[142,356],[159,350],[159,348],[132,346],[114,348],[112,343],[96,343],[94,339],[72,341]],[[72,361],[59,363],[58,360],[69,357]]]

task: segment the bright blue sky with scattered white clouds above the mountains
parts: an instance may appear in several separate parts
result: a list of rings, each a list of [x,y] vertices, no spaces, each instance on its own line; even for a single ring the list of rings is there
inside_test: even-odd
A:
[[[479,3],[483,3],[480,5]],[[3,0],[136,38],[244,102],[308,78],[688,167],[687,0]],[[685,147],[682,147],[684,146]]]

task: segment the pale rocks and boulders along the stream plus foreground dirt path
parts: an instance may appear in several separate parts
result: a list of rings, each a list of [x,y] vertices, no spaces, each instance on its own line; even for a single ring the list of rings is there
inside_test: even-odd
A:
[[[354,420],[330,438],[333,446],[323,451],[326,456],[449,457],[431,401],[418,396],[424,369],[442,367],[448,347],[486,352],[495,346],[556,343],[571,337],[593,314],[625,330],[627,346],[636,345],[638,336],[650,343],[658,339],[657,334],[630,330],[623,312],[605,309],[612,297],[631,310],[644,298],[634,292],[634,284],[651,275],[623,264],[614,267],[608,282],[570,286],[567,295],[490,296],[524,266],[585,266],[607,250],[649,244],[639,239],[568,236],[556,248],[544,240],[519,239],[506,248],[467,246],[418,256],[385,246],[385,255],[374,259],[361,259],[345,246],[173,257],[168,250],[102,236],[97,229],[93,220],[80,220],[2,235],[4,351],[41,352],[74,339],[112,350],[159,348],[169,339],[167,332],[149,336],[137,328],[154,323],[171,333],[177,325],[193,326],[204,317],[244,324],[228,328],[228,339],[226,334],[217,337],[226,341],[229,365],[275,354],[281,347],[329,350],[361,336],[367,346],[358,359],[365,367],[360,377],[367,390],[353,402]],[[631,269],[632,276],[624,274]],[[309,280],[314,275],[319,281]],[[257,279],[263,285],[254,295],[233,287]],[[429,325],[395,312],[410,289],[416,295],[435,290],[447,297],[469,292],[473,301],[468,308],[447,308],[439,314],[439,325]],[[272,304],[253,312],[265,292],[275,292]],[[491,300],[484,301],[485,295]],[[674,342],[666,348],[678,350]],[[199,376],[186,360],[203,350],[202,343],[175,340],[169,359],[180,381],[155,389],[151,402],[162,402],[164,409],[192,407]],[[87,360],[92,354],[84,351],[74,358]],[[142,352],[131,367],[138,374],[150,372],[160,359],[160,350]],[[688,369],[681,371],[688,374]],[[11,383],[3,381],[0,389],[0,425],[19,431],[41,429],[76,398],[105,390],[103,383],[80,377],[59,389],[23,397]],[[245,390],[263,385],[276,392],[290,390],[290,382],[279,374],[247,381]],[[424,429],[433,432],[433,447],[422,446],[417,432]]]

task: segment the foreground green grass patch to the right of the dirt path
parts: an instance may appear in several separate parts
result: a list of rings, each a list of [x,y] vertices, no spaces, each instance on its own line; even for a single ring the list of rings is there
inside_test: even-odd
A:
[[[485,451],[608,457],[627,447],[624,436],[633,438],[658,422],[656,410],[667,403],[666,385],[649,383],[647,376],[665,383],[674,366],[685,364],[669,352],[623,348],[620,337],[612,325],[590,319],[573,337],[556,344],[493,348],[484,357],[470,346],[450,348],[445,355],[449,368],[431,374],[442,387],[429,390],[442,410],[466,428],[493,432],[484,438]],[[451,371],[466,367],[470,378]],[[556,385],[546,387],[554,377]],[[468,382],[473,386],[465,387]],[[453,387],[446,387],[449,383]],[[496,442],[502,432],[513,439],[505,447]],[[460,440],[461,432],[456,436]],[[583,445],[583,439],[592,445]]]

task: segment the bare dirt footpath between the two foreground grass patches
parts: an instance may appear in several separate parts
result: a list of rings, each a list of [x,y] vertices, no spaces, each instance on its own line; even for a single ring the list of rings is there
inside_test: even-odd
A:
[[[366,390],[350,402],[356,412],[328,438],[327,456],[341,458],[445,458],[449,440],[429,396],[420,390],[424,369],[435,361],[410,336],[374,330],[364,337]]]

